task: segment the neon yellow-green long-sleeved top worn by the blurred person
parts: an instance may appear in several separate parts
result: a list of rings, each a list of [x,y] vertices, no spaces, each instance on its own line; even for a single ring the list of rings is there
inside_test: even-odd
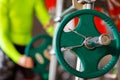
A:
[[[44,0],[0,0],[0,47],[16,63],[21,54],[13,44],[23,46],[31,40],[34,12],[43,25],[48,24]]]

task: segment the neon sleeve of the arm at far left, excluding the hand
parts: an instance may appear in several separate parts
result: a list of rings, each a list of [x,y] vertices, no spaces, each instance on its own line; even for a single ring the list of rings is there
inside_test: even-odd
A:
[[[13,46],[12,42],[10,41],[9,36],[9,15],[8,15],[8,7],[7,3],[0,2],[0,46],[3,51],[16,63],[18,63],[19,58],[21,55],[15,47]],[[16,53],[16,54],[13,54]]]

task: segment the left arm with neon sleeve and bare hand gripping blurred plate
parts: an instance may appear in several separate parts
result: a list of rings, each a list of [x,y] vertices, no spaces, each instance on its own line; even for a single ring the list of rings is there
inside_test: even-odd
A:
[[[32,59],[26,56],[22,56],[14,47],[10,40],[10,22],[9,22],[9,10],[7,2],[1,0],[0,2],[0,48],[9,56],[15,63],[25,68],[32,68]]]

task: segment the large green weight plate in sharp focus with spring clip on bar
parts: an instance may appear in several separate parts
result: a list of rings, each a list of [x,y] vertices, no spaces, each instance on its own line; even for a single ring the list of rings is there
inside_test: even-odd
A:
[[[65,26],[73,18],[78,18],[78,25],[74,29]],[[102,19],[107,32],[100,34],[94,24],[94,17]],[[56,56],[65,70],[81,78],[95,78],[110,71],[116,64],[120,52],[120,37],[113,21],[103,13],[95,10],[78,10],[62,20],[54,38]],[[71,51],[81,61],[82,70],[71,67],[64,58],[64,52]],[[105,56],[111,56],[109,62],[99,68],[100,61]]]

